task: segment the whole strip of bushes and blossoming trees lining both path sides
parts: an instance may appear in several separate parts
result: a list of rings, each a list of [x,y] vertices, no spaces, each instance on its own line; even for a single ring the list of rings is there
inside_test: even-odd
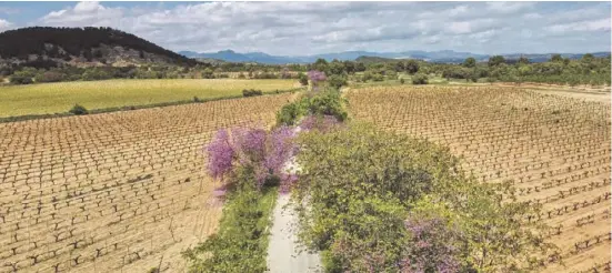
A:
[[[192,271],[265,271],[275,189],[292,192],[325,272],[514,272],[554,253],[546,228],[522,221],[539,206],[465,175],[447,148],[349,121],[340,91],[312,83],[272,130],[221,130],[207,146],[228,200],[220,232],[185,253]]]

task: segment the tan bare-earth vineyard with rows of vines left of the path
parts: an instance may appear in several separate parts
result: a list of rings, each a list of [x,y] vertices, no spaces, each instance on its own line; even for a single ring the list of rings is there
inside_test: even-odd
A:
[[[0,272],[184,271],[221,214],[202,144],[290,98],[0,124]]]

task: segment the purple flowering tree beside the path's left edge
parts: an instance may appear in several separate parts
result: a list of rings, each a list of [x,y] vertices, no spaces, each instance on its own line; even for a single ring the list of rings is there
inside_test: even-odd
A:
[[[235,168],[251,168],[259,189],[269,179],[277,178],[281,182],[281,190],[285,191],[297,180],[294,174],[284,170],[297,152],[294,136],[293,129],[289,127],[270,132],[261,128],[219,130],[204,149],[208,155],[207,171],[213,179],[227,182],[223,180]]]

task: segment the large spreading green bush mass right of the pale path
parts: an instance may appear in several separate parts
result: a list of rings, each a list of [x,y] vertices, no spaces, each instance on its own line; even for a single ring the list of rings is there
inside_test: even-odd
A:
[[[550,246],[518,221],[536,206],[464,176],[448,148],[363,124],[300,145],[299,237],[331,272],[508,272]]]

